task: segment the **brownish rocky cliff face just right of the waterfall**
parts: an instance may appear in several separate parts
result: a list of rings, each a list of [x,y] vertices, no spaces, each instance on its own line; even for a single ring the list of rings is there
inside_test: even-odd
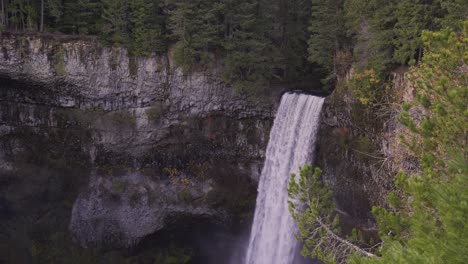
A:
[[[418,168],[399,141],[406,129],[397,120],[402,102],[413,95],[403,70],[392,75],[385,102],[364,106],[347,87],[349,79],[340,80],[325,100],[317,165],[332,186],[344,223],[376,231],[371,207],[387,206],[386,197],[399,170]]]

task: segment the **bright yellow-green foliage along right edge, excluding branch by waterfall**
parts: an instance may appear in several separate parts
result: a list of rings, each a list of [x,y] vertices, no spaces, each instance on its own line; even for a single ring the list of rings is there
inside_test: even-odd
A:
[[[421,174],[400,173],[391,193],[392,210],[374,208],[383,246],[378,258],[355,256],[352,263],[466,263],[468,233],[468,22],[457,35],[424,32],[426,55],[409,73],[417,89],[414,105],[404,107],[404,142],[419,158]]]

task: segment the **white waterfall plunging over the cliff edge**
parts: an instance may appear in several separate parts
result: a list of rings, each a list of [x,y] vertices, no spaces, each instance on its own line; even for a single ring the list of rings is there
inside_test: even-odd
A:
[[[296,226],[288,210],[291,173],[313,159],[323,98],[283,95],[270,132],[245,264],[293,264]]]

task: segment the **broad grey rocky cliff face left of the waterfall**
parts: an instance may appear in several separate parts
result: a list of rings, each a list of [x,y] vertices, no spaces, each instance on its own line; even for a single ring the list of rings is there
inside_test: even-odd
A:
[[[236,94],[215,67],[184,74],[170,56],[94,40],[3,35],[0,46],[5,223],[70,217],[82,246],[129,247],[178,215],[249,211],[274,100]]]

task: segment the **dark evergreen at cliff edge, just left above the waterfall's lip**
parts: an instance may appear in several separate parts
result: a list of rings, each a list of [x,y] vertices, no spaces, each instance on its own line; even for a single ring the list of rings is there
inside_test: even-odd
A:
[[[268,13],[260,10],[257,1],[227,1],[225,80],[241,92],[258,92],[269,85],[277,57],[271,39]]]

